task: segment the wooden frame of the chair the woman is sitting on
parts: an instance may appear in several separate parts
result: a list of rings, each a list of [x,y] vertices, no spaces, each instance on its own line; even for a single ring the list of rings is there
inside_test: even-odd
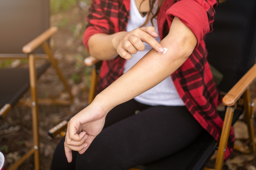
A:
[[[91,80],[91,88],[89,91],[89,99],[88,104],[90,104],[93,99],[95,98],[95,89],[96,89],[96,82],[98,78],[98,71],[99,68],[96,66],[97,62],[100,60],[90,56],[85,59],[86,66],[93,66],[92,67],[92,80]],[[252,66],[252,68],[244,74],[244,76],[235,84],[235,86],[229,90],[229,92],[223,97],[222,103],[227,106],[223,128],[221,131],[220,142],[219,142],[219,149],[218,155],[215,162],[215,168],[207,168],[205,167],[204,170],[221,170],[223,166],[225,151],[227,147],[227,140],[231,128],[231,122],[234,114],[234,105],[240,97],[243,96],[244,101],[244,112],[246,117],[246,124],[248,126],[250,141],[251,141],[251,150],[246,151],[247,153],[253,153],[255,151],[255,141],[254,141],[254,125],[253,125],[253,107],[254,104],[251,103],[250,98],[250,89],[249,86],[252,84],[252,81],[256,78],[256,64]],[[66,133],[63,131],[67,127],[68,120],[63,120],[60,124],[55,126],[54,128],[50,129],[48,132],[49,134],[54,137],[58,133],[64,136]],[[129,170],[140,170],[138,168],[130,168]]]

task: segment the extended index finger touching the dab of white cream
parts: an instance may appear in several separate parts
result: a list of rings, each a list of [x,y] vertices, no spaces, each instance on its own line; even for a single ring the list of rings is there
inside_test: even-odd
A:
[[[144,41],[145,43],[149,44],[149,45],[150,45],[154,50],[156,50],[157,52],[163,53],[163,52],[164,52],[164,49],[163,49],[163,47],[161,46],[161,44],[158,43],[158,42],[154,39],[153,36],[149,35],[149,34],[146,32],[145,29],[146,29],[146,28],[143,27],[143,28],[142,28],[143,31],[142,31],[139,35],[137,35],[137,36],[140,37],[140,39],[141,39],[142,41]]]

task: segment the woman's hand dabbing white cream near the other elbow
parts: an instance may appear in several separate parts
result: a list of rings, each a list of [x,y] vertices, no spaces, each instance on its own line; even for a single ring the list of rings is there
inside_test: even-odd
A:
[[[163,53],[163,47],[154,39],[157,37],[155,28],[142,27],[136,28],[130,32],[118,32],[112,39],[113,47],[117,53],[125,59],[131,59],[132,54],[135,54],[138,50],[143,51],[145,45],[143,42],[149,44],[153,49],[159,53]]]

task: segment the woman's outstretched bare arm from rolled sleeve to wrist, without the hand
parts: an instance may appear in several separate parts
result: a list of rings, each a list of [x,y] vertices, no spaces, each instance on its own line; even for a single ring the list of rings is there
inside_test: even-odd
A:
[[[94,102],[106,112],[139,94],[153,88],[178,69],[193,52],[197,39],[177,17],[169,34],[160,42],[168,50],[159,54],[150,50],[136,65],[103,90]]]

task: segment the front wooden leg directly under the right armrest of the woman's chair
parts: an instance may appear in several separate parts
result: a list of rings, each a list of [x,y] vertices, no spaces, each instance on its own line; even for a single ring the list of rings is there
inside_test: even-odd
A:
[[[221,131],[220,141],[219,141],[219,150],[218,155],[215,162],[215,168],[216,170],[221,170],[223,166],[225,151],[227,147],[227,140],[230,132],[231,122],[233,119],[234,114],[234,108],[228,106],[223,122],[223,127]]]

